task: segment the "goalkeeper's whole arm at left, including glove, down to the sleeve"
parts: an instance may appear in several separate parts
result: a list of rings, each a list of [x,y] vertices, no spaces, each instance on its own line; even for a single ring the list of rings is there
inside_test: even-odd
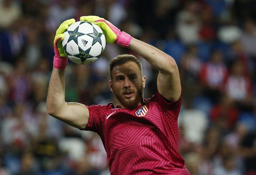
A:
[[[62,49],[61,41],[64,38],[64,31],[74,22],[75,19],[64,21],[56,31],[54,39],[54,68],[50,78],[46,107],[49,115],[70,126],[84,129],[89,118],[88,108],[80,103],[65,102],[64,70],[67,65],[67,56]]]

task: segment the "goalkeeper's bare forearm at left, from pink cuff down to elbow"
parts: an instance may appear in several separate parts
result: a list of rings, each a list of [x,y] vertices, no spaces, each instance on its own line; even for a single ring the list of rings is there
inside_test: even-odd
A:
[[[65,105],[64,70],[53,68],[49,82],[46,107],[50,115],[58,115]]]

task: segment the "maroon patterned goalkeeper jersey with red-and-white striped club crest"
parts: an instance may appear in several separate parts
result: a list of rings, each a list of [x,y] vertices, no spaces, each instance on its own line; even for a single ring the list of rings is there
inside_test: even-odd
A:
[[[134,110],[87,106],[84,130],[97,132],[107,152],[110,173],[189,175],[178,153],[181,97],[167,103],[157,92]]]

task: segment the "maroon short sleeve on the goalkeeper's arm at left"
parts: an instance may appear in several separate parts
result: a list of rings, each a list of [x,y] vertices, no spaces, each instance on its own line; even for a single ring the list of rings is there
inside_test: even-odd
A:
[[[99,135],[102,132],[102,121],[107,111],[107,106],[91,105],[87,106],[89,110],[89,118],[87,126],[82,130],[93,131]]]

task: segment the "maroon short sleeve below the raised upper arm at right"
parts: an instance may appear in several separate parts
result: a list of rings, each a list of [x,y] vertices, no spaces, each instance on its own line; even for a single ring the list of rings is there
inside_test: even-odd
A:
[[[178,120],[182,101],[182,93],[177,101],[168,103],[157,91],[157,93],[152,97],[152,100],[157,103],[158,109],[160,112],[162,112],[164,117],[168,117],[170,120]]]

